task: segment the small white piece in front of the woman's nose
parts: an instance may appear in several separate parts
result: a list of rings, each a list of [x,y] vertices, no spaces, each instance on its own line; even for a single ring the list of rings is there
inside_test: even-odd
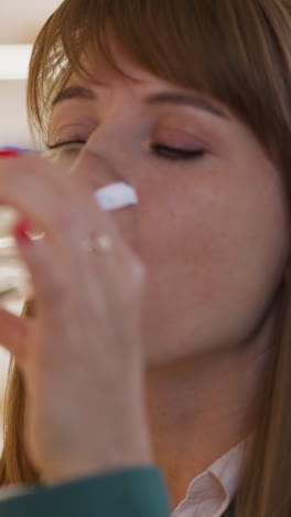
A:
[[[139,202],[137,191],[123,182],[101,187],[94,192],[94,198],[104,210],[117,210]]]

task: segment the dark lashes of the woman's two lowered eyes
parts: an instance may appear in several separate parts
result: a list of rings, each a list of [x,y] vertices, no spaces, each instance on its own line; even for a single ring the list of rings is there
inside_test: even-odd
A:
[[[62,141],[54,146],[47,146],[48,149],[56,149],[68,144],[85,144],[83,140],[71,140]],[[151,146],[151,151],[155,155],[158,159],[168,159],[172,161],[186,161],[186,160],[197,160],[203,158],[205,155],[204,149],[179,149],[174,147],[163,146],[162,144],[154,144]],[[163,155],[163,152],[165,155]]]

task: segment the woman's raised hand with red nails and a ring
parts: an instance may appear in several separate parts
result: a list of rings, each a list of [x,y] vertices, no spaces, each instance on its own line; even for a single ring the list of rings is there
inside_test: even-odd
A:
[[[93,196],[40,157],[0,160],[0,202],[45,232],[18,239],[37,318],[0,310],[0,342],[24,376],[31,461],[47,483],[151,464],[142,263]],[[84,252],[93,233],[114,249]]]

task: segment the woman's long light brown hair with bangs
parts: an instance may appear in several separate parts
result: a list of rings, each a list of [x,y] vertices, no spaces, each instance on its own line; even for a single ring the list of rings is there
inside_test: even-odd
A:
[[[291,0],[65,0],[34,44],[29,122],[45,141],[52,98],[73,71],[89,77],[85,49],[119,71],[108,31],[146,70],[227,105],[281,173],[291,208]],[[119,71],[121,74],[122,72]],[[237,493],[239,517],[291,515],[291,278],[280,291],[276,355],[266,371],[252,450]],[[25,312],[31,313],[32,304]],[[24,387],[11,362],[2,485],[39,482],[23,445]]]

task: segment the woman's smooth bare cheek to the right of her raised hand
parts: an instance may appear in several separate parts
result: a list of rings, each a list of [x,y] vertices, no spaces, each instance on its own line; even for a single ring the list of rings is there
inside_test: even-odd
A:
[[[279,186],[177,182],[157,188],[143,210],[148,342],[159,341],[157,350],[166,342],[176,354],[179,341],[180,352],[188,354],[245,340],[287,260],[289,222]]]

